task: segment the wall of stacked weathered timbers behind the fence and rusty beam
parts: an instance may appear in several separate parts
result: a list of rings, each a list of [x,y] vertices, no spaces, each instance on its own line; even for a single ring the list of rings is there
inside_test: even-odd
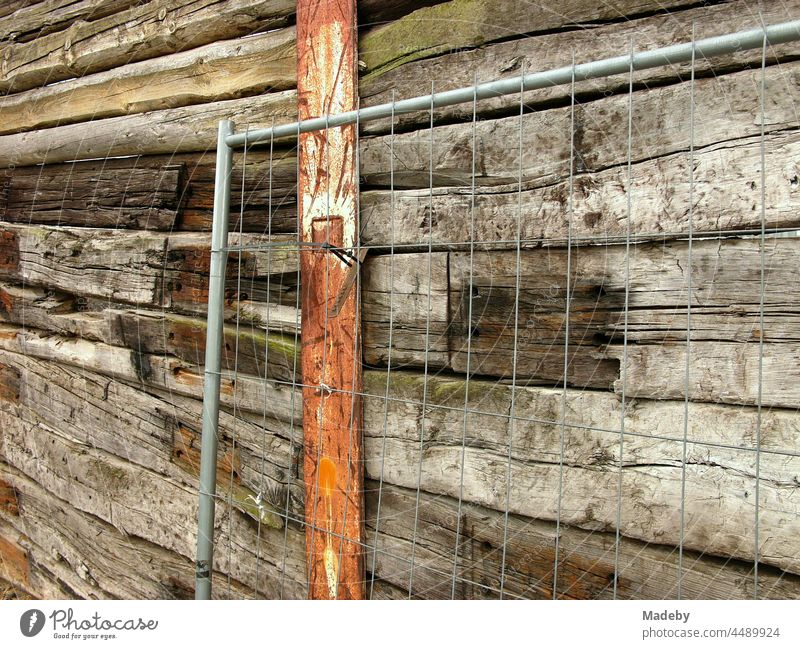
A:
[[[360,94],[374,105],[568,65],[573,51],[687,41],[692,25],[698,38],[746,29],[759,10],[789,20],[800,0],[359,6]],[[293,12],[283,0],[0,9],[0,579],[19,592],[192,596],[216,122],[294,118]],[[675,597],[681,541],[684,597],[753,597],[756,553],[759,597],[800,595],[800,239],[737,236],[760,228],[762,192],[767,227],[800,227],[798,55],[768,51],[763,119],[756,51],[698,61],[693,92],[686,65],[637,73],[630,98],[624,76],[579,83],[574,115],[558,87],[527,94],[521,120],[509,97],[480,104],[474,128],[472,106],[437,111],[433,132],[425,114],[399,116],[394,136],[363,126],[373,597],[450,597],[454,572],[457,597],[496,598],[501,580],[506,597],[552,597],[556,558],[560,597],[609,598],[615,575],[619,597]],[[292,239],[294,152],[279,144],[270,167],[254,149],[244,164],[238,239]],[[470,238],[495,245],[447,245]],[[218,507],[214,595],[302,598],[302,409],[286,384],[297,256],[242,253],[229,269],[238,375],[221,397],[231,506]]]

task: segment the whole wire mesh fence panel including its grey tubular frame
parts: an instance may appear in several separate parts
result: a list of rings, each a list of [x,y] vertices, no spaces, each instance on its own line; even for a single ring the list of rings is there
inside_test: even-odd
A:
[[[793,592],[800,124],[773,48],[797,38],[793,22],[654,52],[631,42],[352,114],[224,123],[198,576],[215,499],[256,520],[254,597],[305,596],[304,526],[345,529],[304,515],[302,390],[337,391],[301,372],[309,254],[350,269],[318,305],[326,323],[350,291],[359,300],[363,390],[348,394],[364,409],[350,433],[364,440],[366,534],[347,540],[368,596]],[[709,63],[747,50],[730,74]],[[661,66],[675,78],[653,82]],[[581,85],[609,75],[613,90]],[[276,234],[298,210],[287,137],[367,120],[360,243]]]

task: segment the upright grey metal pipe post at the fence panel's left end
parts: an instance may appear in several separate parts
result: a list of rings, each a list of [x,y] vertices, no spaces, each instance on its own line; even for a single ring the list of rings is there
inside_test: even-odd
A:
[[[211,266],[208,277],[208,326],[203,380],[203,434],[200,447],[200,509],[197,513],[195,599],[211,599],[214,556],[214,498],[217,491],[217,429],[222,353],[225,265],[228,260],[233,150],[225,138],[233,122],[222,120],[217,135],[217,169],[214,183],[214,221],[211,227]]]

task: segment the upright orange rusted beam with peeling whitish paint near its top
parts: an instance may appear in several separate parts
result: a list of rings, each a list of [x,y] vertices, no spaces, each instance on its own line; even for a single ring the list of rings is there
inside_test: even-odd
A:
[[[355,0],[298,0],[299,118],[357,107]],[[364,597],[355,127],[300,136],[303,435],[309,597]],[[324,246],[326,247],[323,247]],[[330,246],[339,249],[339,254]],[[347,297],[341,295],[347,291]]]

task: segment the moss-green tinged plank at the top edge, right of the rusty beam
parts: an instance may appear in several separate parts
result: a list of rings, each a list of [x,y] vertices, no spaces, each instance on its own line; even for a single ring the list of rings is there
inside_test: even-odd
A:
[[[678,9],[689,0],[668,3],[618,0],[601,5],[565,0],[558,11],[547,6],[505,0],[451,0],[426,7],[369,32],[359,43],[359,57],[368,70],[383,72],[403,63],[445,52],[478,47],[520,34],[545,32],[641,13]]]

